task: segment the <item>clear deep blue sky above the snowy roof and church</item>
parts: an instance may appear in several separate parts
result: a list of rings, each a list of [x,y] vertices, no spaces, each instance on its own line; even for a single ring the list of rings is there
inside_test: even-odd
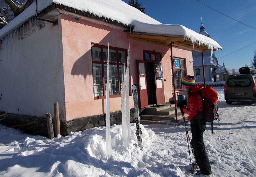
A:
[[[128,1],[125,0],[126,3]],[[256,0],[200,0],[248,26],[230,19],[196,0],[138,1],[146,7],[147,15],[163,24],[181,24],[195,32],[200,32],[202,17],[205,31],[223,48],[216,52],[219,64],[223,65],[224,62],[226,68],[229,69],[239,69],[245,64],[250,66],[256,49],[256,29],[248,26],[256,28]],[[236,50],[239,51],[232,53]],[[224,55],[227,56],[223,57]]]

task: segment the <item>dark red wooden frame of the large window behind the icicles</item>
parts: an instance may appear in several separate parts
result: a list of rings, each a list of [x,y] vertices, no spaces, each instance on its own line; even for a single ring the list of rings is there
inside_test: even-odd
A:
[[[100,44],[92,44],[91,47],[98,47],[101,48],[101,62],[99,61],[93,61],[92,57],[92,71],[93,71],[93,64],[101,64],[102,66],[102,82],[103,82],[103,96],[94,96],[94,100],[99,100],[99,99],[104,99],[106,98],[106,92],[105,92],[105,75],[104,75],[104,64],[107,64],[107,62],[103,61],[103,48],[108,49],[108,46],[100,45]],[[121,85],[120,85],[120,73],[119,73],[119,66],[127,66],[127,49],[124,48],[118,48],[118,47],[111,47],[109,46],[109,50],[116,50],[117,54],[117,62],[109,62],[109,65],[117,65],[117,70],[118,70],[118,87],[119,87],[119,94],[116,95],[109,95],[109,98],[115,98],[115,97],[121,97]],[[118,55],[118,50],[119,51],[124,51],[125,52],[125,63],[119,63],[119,55]],[[92,49],[91,49],[91,56],[92,56]],[[126,68],[125,68],[126,69]],[[94,95],[94,89],[93,89],[93,95]]]

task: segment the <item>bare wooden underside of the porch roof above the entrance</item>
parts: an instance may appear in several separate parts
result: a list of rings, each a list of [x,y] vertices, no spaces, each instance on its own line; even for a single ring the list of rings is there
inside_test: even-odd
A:
[[[127,38],[165,47],[170,47],[170,44],[172,44],[172,46],[181,47],[191,51],[198,52],[211,50],[208,48],[208,46],[198,45],[197,43],[193,43],[189,39],[185,39],[184,36],[158,35],[142,32],[127,32]],[[213,51],[216,51],[216,49],[213,49]]]

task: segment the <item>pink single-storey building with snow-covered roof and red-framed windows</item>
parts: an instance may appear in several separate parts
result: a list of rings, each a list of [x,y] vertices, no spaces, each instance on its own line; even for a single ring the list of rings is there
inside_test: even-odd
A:
[[[104,2],[39,2],[41,20],[32,4],[0,30],[0,110],[8,113],[6,124],[33,122],[36,132],[58,102],[61,134],[105,126],[108,43],[111,124],[121,123],[120,82],[129,45],[130,87],[140,87],[141,109],[173,99],[172,72],[175,90],[182,89],[184,75],[193,75],[192,50],[221,49],[211,38],[163,25],[123,1]],[[132,112],[131,90],[129,107]]]

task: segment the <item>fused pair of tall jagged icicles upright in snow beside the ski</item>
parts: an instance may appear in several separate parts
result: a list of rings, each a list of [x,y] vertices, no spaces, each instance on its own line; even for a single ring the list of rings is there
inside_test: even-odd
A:
[[[121,112],[122,112],[122,136],[124,146],[129,147],[131,143],[130,128],[130,102],[129,102],[129,65],[130,65],[130,45],[128,48],[127,66],[121,82]]]

